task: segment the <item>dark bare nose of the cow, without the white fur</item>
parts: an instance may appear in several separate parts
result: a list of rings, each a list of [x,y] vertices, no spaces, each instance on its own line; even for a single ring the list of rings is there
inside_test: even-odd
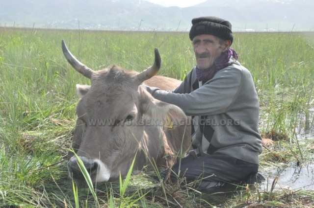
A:
[[[89,173],[91,179],[93,180],[97,176],[97,171],[99,164],[98,162],[94,162],[88,158],[85,157],[79,157],[79,159],[83,162],[87,172]],[[82,171],[80,170],[78,166],[78,160],[76,157],[72,157],[68,163],[68,169],[70,177],[76,180],[84,180],[84,176],[82,174]]]

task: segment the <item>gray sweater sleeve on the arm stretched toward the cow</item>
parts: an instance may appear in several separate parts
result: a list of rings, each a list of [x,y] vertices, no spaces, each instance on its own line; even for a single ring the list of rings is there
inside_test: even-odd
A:
[[[224,113],[231,105],[241,85],[242,71],[226,68],[199,89],[189,93],[176,93],[151,89],[152,95],[161,101],[179,106],[186,115],[214,115]],[[180,89],[180,87],[179,87]]]

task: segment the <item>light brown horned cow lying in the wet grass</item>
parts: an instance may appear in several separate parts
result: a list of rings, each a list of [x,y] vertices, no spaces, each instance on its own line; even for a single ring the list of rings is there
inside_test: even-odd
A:
[[[155,49],[154,64],[142,72],[121,67],[93,70],[79,62],[64,40],[62,50],[70,65],[91,80],[77,85],[77,124],[72,148],[93,182],[111,182],[144,167],[172,165],[190,149],[188,117],[172,104],[152,97],[141,85],[172,90],[181,81],[155,76],[161,59]],[[76,156],[68,162],[71,178],[83,180]]]

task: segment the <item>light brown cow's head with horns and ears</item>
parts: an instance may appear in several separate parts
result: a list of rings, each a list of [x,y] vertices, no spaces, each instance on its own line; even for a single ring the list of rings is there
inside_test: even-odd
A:
[[[185,116],[180,108],[154,99],[141,87],[144,80],[159,70],[159,52],[155,49],[155,62],[151,67],[137,73],[115,66],[94,71],[80,63],[63,40],[62,50],[72,67],[91,80],[90,86],[77,85],[80,100],[72,147],[94,182],[117,180],[120,174],[125,176],[129,171],[141,145],[146,145],[141,142],[147,136],[144,128],[153,128],[156,132],[161,128],[156,124],[165,121],[167,116]],[[146,118],[151,118],[150,125],[155,126],[147,126]],[[83,179],[75,156],[70,159],[68,168],[70,177]]]

